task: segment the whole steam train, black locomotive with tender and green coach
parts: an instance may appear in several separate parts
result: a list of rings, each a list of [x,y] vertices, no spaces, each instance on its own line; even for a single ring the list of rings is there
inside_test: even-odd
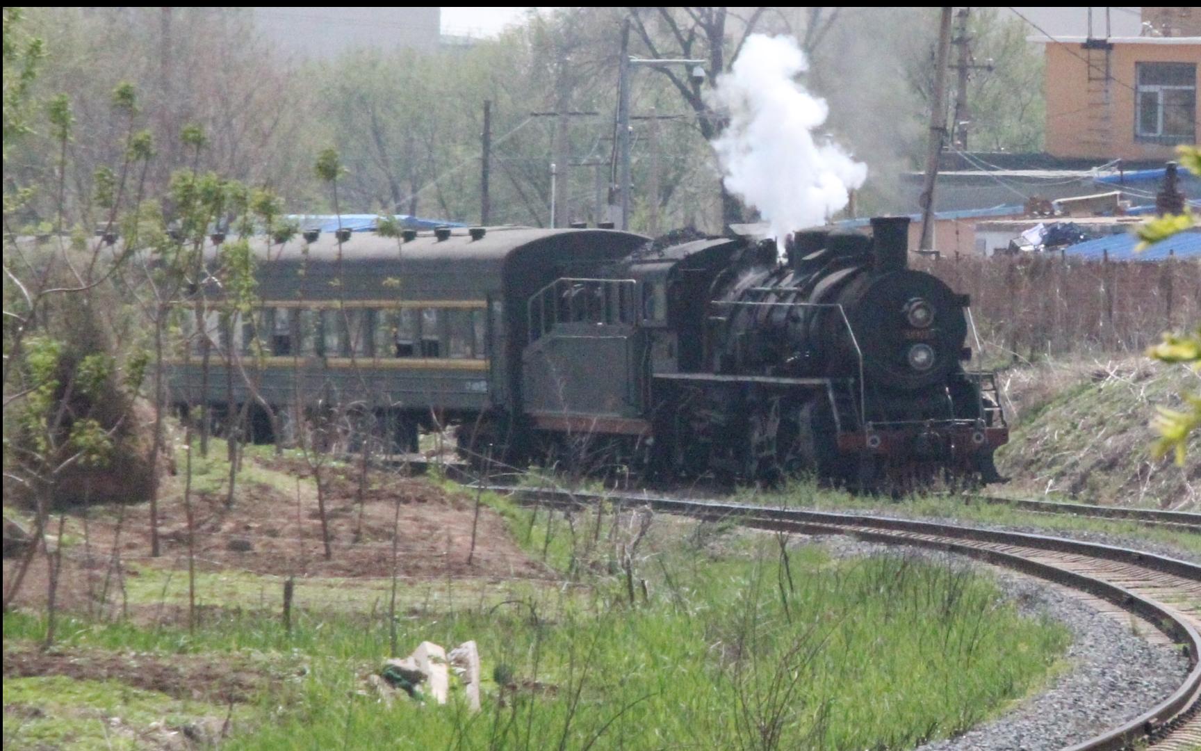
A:
[[[907,225],[797,232],[783,261],[775,240],[604,228],[263,240],[257,310],[204,291],[171,382],[261,430],[262,405],[285,433],[353,405],[402,449],[454,424],[494,465],[997,481],[1008,429],[993,376],[963,368],[968,299],[908,268]]]

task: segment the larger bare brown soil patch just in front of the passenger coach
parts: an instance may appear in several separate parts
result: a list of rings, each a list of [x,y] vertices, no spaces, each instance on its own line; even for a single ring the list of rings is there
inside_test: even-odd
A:
[[[474,502],[467,494],[447,493],[419,477],[371,470],[360,505],[358,469],[353,466],[321,470],[331,552],[327,560],[312,470],[298,459],[246,461],[257,461],[258,469],[267,470],[270,483],[240,481],[232,507],[226,506],[223,491],[193,497],[197,571],[307,579],[388,578],[393,571],[395,526],[395,568],[400,577],[550,579],[555,576],[521,552],[495,511],[482,506],[477,524]],[[178,484],[179,478],[173,481]],[[294,487],[285,493],[288,485]],[[150,558],[147,505],[124,508],[94,505],[86,511],[67,512],[64,538],[68,547],[61,560],[58,607],[65,612],[91,612],[106,591],[109,607],[120,607],[113,603],[119,589],[115,578],[138,576],[136,567],[129,566],[131,562],[183,573],[189,534],[181,493],[163,499],[159,519],[161,556]],[[49,531],[58,532],[58,518],[52,520]],[[123,564],[119,567],[114,566],[116,558]],[[4,560],[6,591],[18,566],[19,559]],[[48,577],[48,561],[38,555],[25,574],[16,604],[44,608]],[[160,620],[165,614],[153,615]]]

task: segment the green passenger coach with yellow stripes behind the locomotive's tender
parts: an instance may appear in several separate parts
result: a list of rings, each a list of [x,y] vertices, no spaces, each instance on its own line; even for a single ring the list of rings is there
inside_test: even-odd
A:
[[[167,362],[175,406],[245,412],[258,440],[345,410],[411,451],[422,427],[510,425],[522,413],[526,302],[568,266],[611,262],[647,238],[473,227],[251,243],[249,310],[211,276],[179,306],[187,344]],[[209,263],[219,254],[210,243]]]

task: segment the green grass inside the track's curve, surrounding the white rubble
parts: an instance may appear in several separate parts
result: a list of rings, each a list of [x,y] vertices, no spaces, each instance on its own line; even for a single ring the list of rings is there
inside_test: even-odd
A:
[[[909,747],[996,714],[1040,685],[1069,640],[1063,627],[1020,615],[990,577],[968,568],[898,555],[836,560],[795,544],[785,560],[775,537],[730,525],[647,524],[611,509],[569,523],[561,512],[551,519],[485,500],[530,555],[545,552],[576,584],[448,597],[399,619],[402,652],[425,639],[479,643],[479,715],[460,703],[386,707],[363,680],[389,651],[383,613],[318,612],[298,597],[288,634],[270,608],[245,602],[255,583],[213,590],[213,604],[231,597],[243,607],[205,612],[195,634],[65,619],[61,642],[303,660],[303,678],[247,708],[229,749],[864,749]],[[633,601],[627,580],[639,583]],[[5,643],[38,639],[43,627],[36,614],[10,613]],[[22,702],[52,705],[55,685],[30,684]]]

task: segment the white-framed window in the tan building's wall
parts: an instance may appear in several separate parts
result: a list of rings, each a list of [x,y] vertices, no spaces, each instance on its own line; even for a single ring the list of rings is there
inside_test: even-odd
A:
[[[1197,66],[1193,62],[1137,62],[1134,132],[1140,141],[1194,143]]]

